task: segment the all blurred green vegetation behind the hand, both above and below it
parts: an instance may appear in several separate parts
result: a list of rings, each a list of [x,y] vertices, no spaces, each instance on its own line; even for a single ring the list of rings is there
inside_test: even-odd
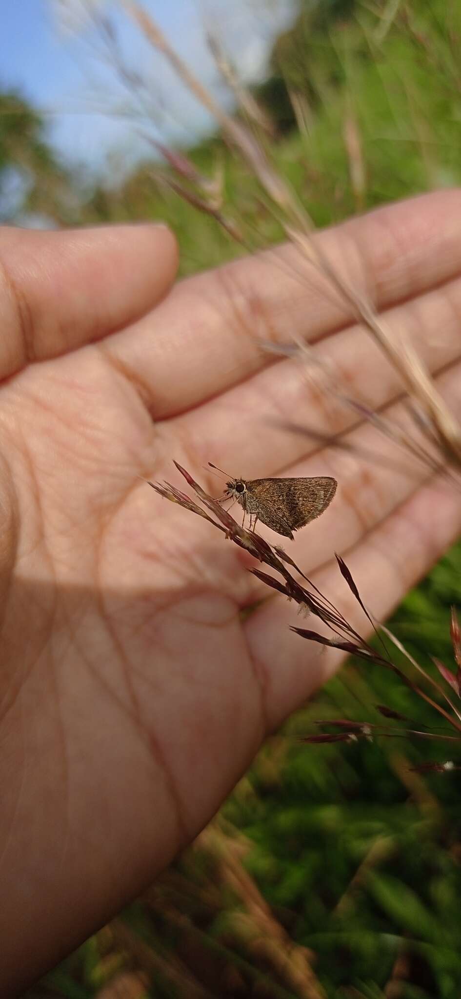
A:
[[[275,162],[317,225],[461,183],[460,51],[457,0],[301,4],[256,96],[275,121]],[[241,252],[155,182],[157,161],[117,189],[90,185],[58,162],[20,94],[1,95],[0,112],[3,221],[160,217],[178,235],[183,275]],[[204,174],[222,171],[226,203],[245,216],[255,246],[280,239],[219,135],[188,155]],[[450,605],[460,603],[457,545],[391,622],[429,670],[432,655],[451,663]],[[376,703],[416,727],[434,721],[390,672],[349,662],[262,749],[174,867],[27,999],[458,999],[459,775],[410,769],[444,759],[443,748],[437,756],[411,740],[315,746],[286,737],[312,731],[316,718],[379,720]]]

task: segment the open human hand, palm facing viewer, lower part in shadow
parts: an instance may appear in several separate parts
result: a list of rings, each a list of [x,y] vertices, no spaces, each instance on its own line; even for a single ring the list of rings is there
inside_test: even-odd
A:
[[[443,192],[318,237],[418,344],[457,417],[460,214]],[[363,631],[334,550],[385,617],[459,532],[456,489],[261,350],[303,338],[350,395],[407,419],[379,350],[290,261],[165,297],[177,250],[162,226],[0,232],[2,995],[141,892],[340,661],[289,630],[279,596],[242,621],[267,596],[248,554],[138,477],[187,491],[175,458],[219,496],[208,461],[334,476],[329,508],[286,547]],[[287,433],[293,419],[317,437]],[[333,433],[352,450],[319,444]]]

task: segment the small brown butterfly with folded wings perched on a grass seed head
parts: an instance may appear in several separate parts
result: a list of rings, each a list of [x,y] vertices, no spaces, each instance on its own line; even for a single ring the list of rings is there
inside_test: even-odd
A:
[[[212,469],[222,472],[208,462]],[[222,475],[226,475],[225,472]],[[229,477],[223,500],[233,498],[250,514],[250,530],[258,520],[284,537],[291,537],[293,530],[315,520],[333,499],[336,479],[329,476],[312,479],[232,479]]]

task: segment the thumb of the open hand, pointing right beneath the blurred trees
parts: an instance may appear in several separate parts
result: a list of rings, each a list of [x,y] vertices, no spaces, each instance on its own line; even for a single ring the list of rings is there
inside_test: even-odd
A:
[[[0,230],[0,378],[99,340],[143,316],[174,280],[164,225]]]

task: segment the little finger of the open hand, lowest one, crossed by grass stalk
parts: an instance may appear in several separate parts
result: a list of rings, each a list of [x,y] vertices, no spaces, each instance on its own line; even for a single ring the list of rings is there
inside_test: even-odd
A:
[[[434,516],[434,510],[437,516]],[[459,494],[434,478],[366,538],[344,554],[366,606],[384,620],[461,529]],[[370,624],[335,563],[312,576],[313,582],[366,636]],[[325,650],[290,631],[290,625],[325,631],[311,617],[305,624],[296,607],[282,597],[268,601],[246,621],[246,637],[260,678],[267,730],[284,718],[334,672],[344,654]],[[384,668],[384,667],[383,667]]]

